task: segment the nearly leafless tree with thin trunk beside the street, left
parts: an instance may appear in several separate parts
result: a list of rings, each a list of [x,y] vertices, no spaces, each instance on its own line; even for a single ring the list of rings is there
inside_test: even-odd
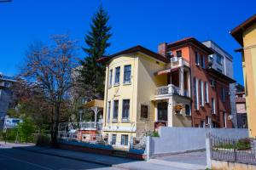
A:
[[[73,86],[72,71],[76,66],[76,42],[67,35],[53,36],[53,45],[34,43],[26,53],[26,64],[21,77],[32,82],[44,93],[44,100],[52,106],[50,134],[53,146],[57,146],[60,112]]]

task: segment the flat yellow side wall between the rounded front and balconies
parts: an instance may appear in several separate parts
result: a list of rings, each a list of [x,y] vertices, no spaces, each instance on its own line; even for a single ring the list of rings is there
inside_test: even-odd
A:
[[[167,84],[166,75],[155,77],[156,71],[162,71],[166,64],[156,62],[143,54],[138,58],[138,94],[137,94],[137,136],[146,131],[154,131],[155,107],[154,95],[156,88]],[[149,117],[147,120],[141,118],[141,105],[148,105]]]

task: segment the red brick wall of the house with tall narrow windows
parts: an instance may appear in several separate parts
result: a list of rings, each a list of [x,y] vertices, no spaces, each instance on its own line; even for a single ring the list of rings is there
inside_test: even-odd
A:
[[[210,80],[211,76],[209,73],[207,73],[206,69],[203,69],[198,65],[195,65],[195,51],[197,51],[200,56],[201,54],[205,57],[205,65],[207,68],[208,65],[208,54],[202,50],[201,48],[198,48],[192,43],[184,44],[183,46],[179,46],[176,48],[172,48],[172,53],[175,54],[177,50],[182,50],[183,59],[186,59],[190,64],[190,80],[191,80],[191,92],[192,92],[192,105],[191,105],[191,113],[192,113],[192,127],[196,127],[196,125],[200,126],[200,123],[202,120],[205,120],[206,117],[210,116],[212,117],[212,122],[216,122],[218,124],[218,127],[224,127],[224,121],[223,121],[223,111],[226,112],[226,116],[230,115],[230,97],[226,95],[225,102],[222,102],[221,100],[221,89],[225,88],[225,92],[229,92],[229,83],[216,80],[217,81],[217,88],[211,88],[210,86]],[[195,111],[195,94],[194,94],[194,77],[201,80],[202,82],[208,82],[208,96],[209,96],[209,103],[203,106],[199,107],[198,111]],[[204,84],[205,86],[205,84]],[[199,89],[200,90],[200,89]],[[204,91],[205,93],[205,91]],[[216,114],[212,115],[212,97],[215,99],[215,105],[216,105]],[[199,101],[198,101],[199,102]],[[227,127],[232,127],[232,122],[227,120]]]

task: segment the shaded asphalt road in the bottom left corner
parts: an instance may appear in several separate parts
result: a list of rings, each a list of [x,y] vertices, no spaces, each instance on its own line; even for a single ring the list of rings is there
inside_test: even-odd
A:
[[[115,167],[106,167],[101,164],[75,161],[58,156],[47,156],[26,150],[0,149],[1,170],[71,170],[71,169],[97,169],[117,170]]]

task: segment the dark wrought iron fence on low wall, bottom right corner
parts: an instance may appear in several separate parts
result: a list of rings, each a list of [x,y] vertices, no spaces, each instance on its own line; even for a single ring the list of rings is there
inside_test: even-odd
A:
[[[256,165],[256,139],[228,139],[209,135],[213,160]]]

